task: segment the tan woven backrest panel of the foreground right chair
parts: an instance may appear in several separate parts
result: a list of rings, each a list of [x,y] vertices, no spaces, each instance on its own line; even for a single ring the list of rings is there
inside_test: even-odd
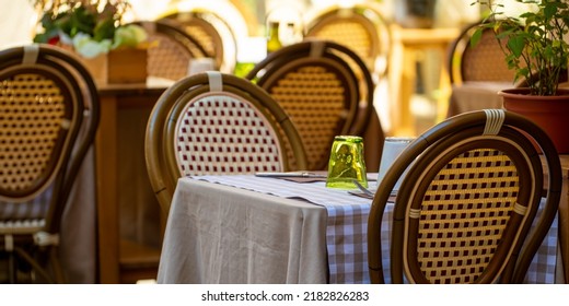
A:
[[[469,151],[441,169],[420,211],[418,260],[427,279],[472,283],[484,272],[512,213],[518,183],[515,166],[496,150]],[[500,197],[485,195],[488,187]]]

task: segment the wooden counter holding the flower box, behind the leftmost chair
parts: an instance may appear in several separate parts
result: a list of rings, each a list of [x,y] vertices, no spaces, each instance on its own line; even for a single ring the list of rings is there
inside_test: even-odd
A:
[[[136,239],[123,242],[121,232],[125,231],[120,226],[120,210],[128,204],[147,208],[155,205],[156,211],[160,211],[148,179],[143,139],[148,116],[166,87],[167,83],[153,80],[149,80],[148,84],[98,86],[101,122],[95,140],[98,283],[116,284],[140,278],[155,278],[160,259],[159,243],[154,242],[152,247]],[[160,216],[154,217],[159,226]],[[139,220],[129,222],[127,226],[136,226],[136,221]],[[152,227],[132,231],[148,232]],[[159,228],[155,232],[154,240],[160,239]],[[144,273],[137,271],[137,262]],[[130,272],[135,275],[128,276]]]

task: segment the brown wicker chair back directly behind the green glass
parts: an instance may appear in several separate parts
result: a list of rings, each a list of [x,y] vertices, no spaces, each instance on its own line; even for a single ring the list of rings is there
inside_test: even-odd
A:
[[[355,71],[353,67],[358,67],[359,71]],[[314,129],[310,128],[312,120],[304,118],[310,111],[315,111],[314,107],[317,107],[318,104],[325,103],[322,101],[322,96],[318,96],[317,103],[293,98],[299,95],[300,91],[310,90],[311,86],[314,89],[323,86],[318,84],[322,82],[320,76],[311,76],[314,69],[334,75],[340,85],[334,96],[341,94],[344,101],[344,110],[338,113],[336,118],[330,119],[336,123],[335,127],[326,130],[327,139],[318,139],[323,133],[314,136]],[[302,76],[303,74],[305,75]],[[311,39],[287,46],[257,63],[245,78],[265,89],[291,115],[301,131],[305,149],[310,150],[307,153],[310,169],[326,168],[328,150],[335,136],[362,136],[373,111],[374,86],[364,62],[348,47],[329,40]],[[288,87],[293,79],[295,79],[294,82],[299,82],[298,91]],[[332,98],[333,96],[330,96]],[[305,111],[301,111],[302,108]],[[322,111],[314,114],[316,117],[323,115]],[[307,146],[307,142],[315,141],[318,144]]]

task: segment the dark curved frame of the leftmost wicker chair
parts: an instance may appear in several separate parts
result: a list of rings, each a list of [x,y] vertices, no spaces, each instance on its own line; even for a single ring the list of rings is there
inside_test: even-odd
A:
[[[34,225],[35,223],[31,223],[31,225],[12,227],[10,224],[25,220],[8,220],[8,227],[0,229],[2,232],[0,250],[8,251],[12,263],[9,272],[10,282],[19,281],[18,268],[13,267],[16,262],[15,257],[19,257],[30,264],[33,271],[37,272],[40,276],[40,280],[37,281],[62,283],[66,282],[66,278],[57,255],[61,216],[79,169],[94,142],[100,120],[97,91],[91,74],[81,64],[81,61],[58,47],[43,44],[13,47],[0,51],[0,79],[5,81],[2,82],[2,86],[7,86],[4,87],[5,92],[2,90],[2,95],[9,94],[18,86],[16,83],[11,83],[15,82],[15,79],[12,79],[13,76],[38,75],[39,79],[37,80],[44,81],[40,84],[27,82],[26,86],[32,89],[32,94],[30,96],[23,95],[15,101],[25,102],[27,98],[30,102],[30,98],[34,96],[38,96],[42,101],[40,92],[49,90],[49,83],[53,82],[51,89],[57,90],[53,90],[48,95],[54,101],[59,99],[57,97],[59,96],[62,109],[69,107],[69,111],[71,111],[68,113],[67,118],[57,119],[61,120],[60,131],[53,149],[49,151],[50,153],[48,153],[45,169],[33,178],[30,185],[20,190],[14,191],[10,185],[4,185],[4,183],[0,188],[2,207],[26,205],[30,210],[34,210],[33,207],[37,208],[43,202],[38,197],[44,198],[47,195],[46,192],[51,195],[46,198],[48,202],[45,214],[19,216],[27,220],[37,219],[39,222],[43,220],[43,225],[37,226]],[[36,91],[33,91],[33,89],[36,89]],[[45,103],[49,103],[49,101],[45,101]],[[67,106],[63,106],[63,104]],[[31,114],[31,117],[34,116]],[[8,120],[8,117],[4,119]],[[45,119],[48,120],[47,114]],[[31,120],[37,122],[39,119]],[[4,128],[11,129],[8,125],[2,127],[2,129]],[[8,132],[11,133],[9,130]],[[5,136],[5,133],[2,134]],[[48,134],[47,131],[46,134]],[[45,145],[48,146],[49,144],[46,142]],[[34,156],[34,152],[28,149],[26,149],[28,154],[18,155],[22,163],[25,163],[25,158]],[[45,150],[40,150],[45,152]],[[27,175],[22,173],[22,176]],[[13,240],[13,245],[10,243],[11,240]],[[45,261],[50,262],[51,269],[46,267]]]

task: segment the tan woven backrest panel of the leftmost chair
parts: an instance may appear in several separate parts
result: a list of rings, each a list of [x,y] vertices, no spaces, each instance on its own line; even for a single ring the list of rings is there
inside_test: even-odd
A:
[[[50,166],[53,148],[70,109],[59,87],[38,74],[4,80],[0,109],[0,188],[32,188]]]

